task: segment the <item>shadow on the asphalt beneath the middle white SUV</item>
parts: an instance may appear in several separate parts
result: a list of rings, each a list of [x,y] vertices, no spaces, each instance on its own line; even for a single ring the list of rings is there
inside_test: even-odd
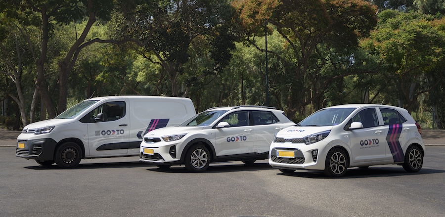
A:
[[[237,171],[260,171],[260,170],[274,170],[268,163],[254,163],[254,164],[230,164],[230,165],[215,165],[218,163],[210,164],[206,171],[202,173],[228,173]],[[185,169],[184,166],[181,167],[171,167],[167,169],[161,169],[158,167],[147,169],[148,171],[157,171],[164,173],[192,173]]]

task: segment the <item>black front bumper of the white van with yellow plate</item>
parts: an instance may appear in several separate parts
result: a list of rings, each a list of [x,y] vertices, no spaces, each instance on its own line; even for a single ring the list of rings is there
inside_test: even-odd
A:
[[[51,138],[17,139],[15,156],[43,161],[53,160],[56,145],[57,142]]]

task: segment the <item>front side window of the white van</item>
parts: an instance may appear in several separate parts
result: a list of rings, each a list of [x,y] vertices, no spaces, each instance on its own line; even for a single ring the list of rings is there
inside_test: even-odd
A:
[[[115,121],[125,116],[125,102],[107,102],[99,105],[89,113],[90,121],[94,122],[97,114],[103,113],[105,121]]]

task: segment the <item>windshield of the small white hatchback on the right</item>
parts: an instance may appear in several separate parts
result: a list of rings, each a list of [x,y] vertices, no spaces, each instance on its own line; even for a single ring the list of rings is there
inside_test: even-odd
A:
[[[329,108],[319,110],[301,121],[297,126],[334,126],[342,123],[356,108]]]

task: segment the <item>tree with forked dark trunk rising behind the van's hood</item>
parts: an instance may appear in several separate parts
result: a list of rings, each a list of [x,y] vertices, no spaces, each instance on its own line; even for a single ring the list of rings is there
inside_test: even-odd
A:
[[[40,47],[34,47],[32,52],[38,56],[35,65],[37,71],[37,87],[49,118],[56,116],[54,106],[48,86],[45,81],[45,69],[48,67],[48,43],[54,37],[55,25],[67,25],[72,22],[79,22],[87,19],[87,25],[77,35],[65,56],[58,62],[58,106],[60,113],[66,110],[67,81],[71,69],[77,60],[80,49],[85,47],[85,40],[92,25],[97,19],[108,19],[111,9],[115,5],[113,0],[41,0],[33,2],[31,0],[11,0],[0,4],[1,11],[9,17],[17,19],[23,25],[36,26],[41,28]],[[90,44],[90,43],[88,43]]]

